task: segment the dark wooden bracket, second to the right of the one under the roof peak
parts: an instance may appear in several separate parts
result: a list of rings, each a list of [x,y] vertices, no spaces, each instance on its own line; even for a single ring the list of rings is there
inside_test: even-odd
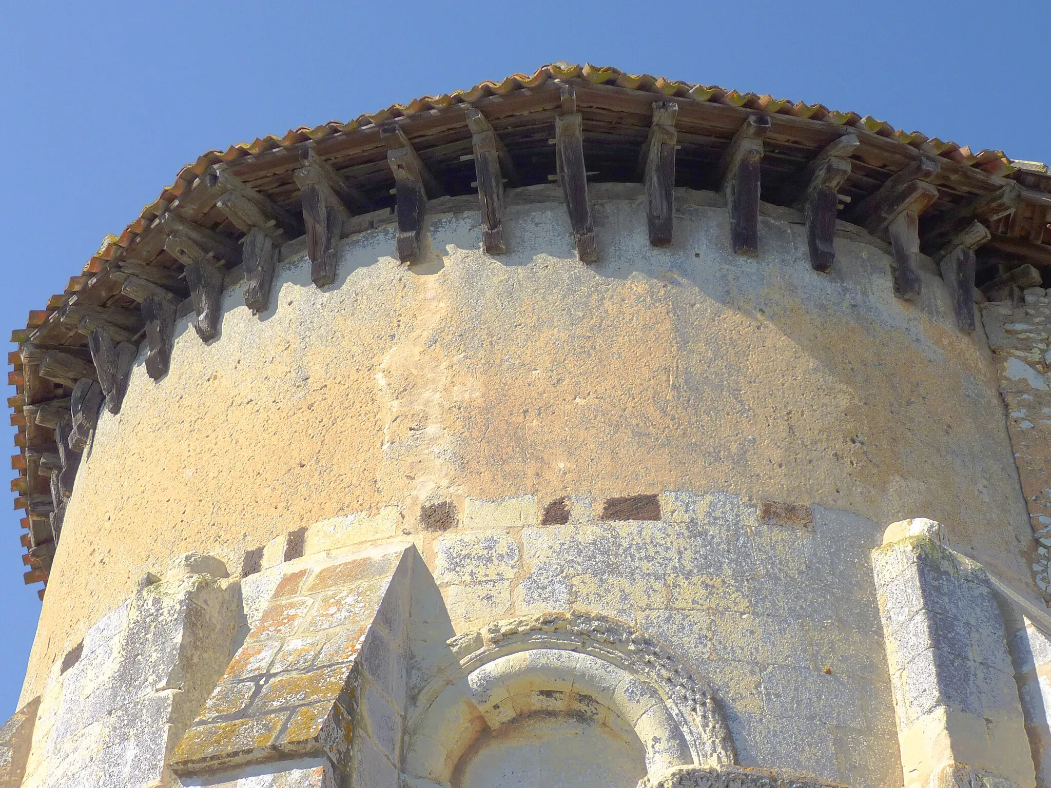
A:
[[[765,115],[750,115],[730,140],[716,170],[726,198],[730,246],[735,254],[759,254],[760,165],[763,138],[770,129]]]

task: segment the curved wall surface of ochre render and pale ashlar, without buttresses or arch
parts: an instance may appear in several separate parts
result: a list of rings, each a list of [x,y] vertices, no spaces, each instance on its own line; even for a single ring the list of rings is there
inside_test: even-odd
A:
[[[874,523],[937,518],[962,553],[1031,582],[981,330],[953,328],[932,268],[919,303],[897,300],[888,255],[860,235],[819,275],[802,225],[765,215],[760,255],[737,257],[719,201],[684,194],[675,244],[654,249],[620,191],[596,199],[595,266],[561,203],[522,190],[498,260],[472,206],[433,219],[411,269],[374,230],[344,243],[331,288],[301,256],[261,318],[233,290],[217,340],[182,320],[169,374],[140,362],[100,420],[24,697],[169,556],[206,545],[236,571],[326,520],[308,541],[417,541],[457,629],[571,603],[637,621],[725,687],[742,763],[822,751],[800,755],[810,773],[857,785],[895,770]],[[607,498],[668,490],[722,497],[596,521]],[[570,522],[539,525],[563,496]],[[767,499],[816,504],[812,532],[758,523],[747,501]],[[420,517],[435,501],[457,513],[447,532]],[[778,714],[792,722],[771,732]],[[856,766],[862,740],[890,749]]]

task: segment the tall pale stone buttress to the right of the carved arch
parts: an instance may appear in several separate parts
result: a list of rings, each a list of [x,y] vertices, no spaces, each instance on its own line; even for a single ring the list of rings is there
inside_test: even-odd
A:
[[[927,519],[887,528],[872,551],[906,788],[966,766],[1032,788],[1014,668],[993,586]]]

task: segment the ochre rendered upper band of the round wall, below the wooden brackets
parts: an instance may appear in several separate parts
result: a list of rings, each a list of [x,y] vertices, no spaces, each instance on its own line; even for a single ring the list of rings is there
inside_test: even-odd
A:
[[[391,538],[447,530],[446,557],[424,555],[450,587],[478,571],[450,533],[471,501],[528,501],[518,525],[646,520],[603,506],[677,490],[775,515],[936,518],[957,549],[1031,584],[995,372],[981,328],[954,328],[932,266],[907,304],[886,248],[851,226],[826,275],[786,209],[763,207],[759,256],[741,257],[715,194],[679,191],[664,249],[648,244],[640,187],[597,185],[593,202],[597,265],[577,261],[557,187],[531,187],[509,192],[507,255],[479,250],[474,199],[434,201],[418,265],[391,256],[393,226],[370,230],[317,289],[286,248],[259,318],[233,288],[215,340],[180,320],[168,375],[153,382],[140,358],[121,413],[100,418],[24,698],[171,556],[207,551],[235,569],[275,537],[385,507]],[[492,544],[462,549],[524,549],[499,533],[515,505]],[[857,573],[870,587],[868,566]],[[473,592],[457,604],[465,620],[489,615]]]

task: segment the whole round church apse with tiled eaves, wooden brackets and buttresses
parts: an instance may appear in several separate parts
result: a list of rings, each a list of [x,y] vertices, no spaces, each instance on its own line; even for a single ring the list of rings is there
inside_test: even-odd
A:
[[[19,334],[0,785],[1051,784],[1051,179],[610,72],[211,163]]]

